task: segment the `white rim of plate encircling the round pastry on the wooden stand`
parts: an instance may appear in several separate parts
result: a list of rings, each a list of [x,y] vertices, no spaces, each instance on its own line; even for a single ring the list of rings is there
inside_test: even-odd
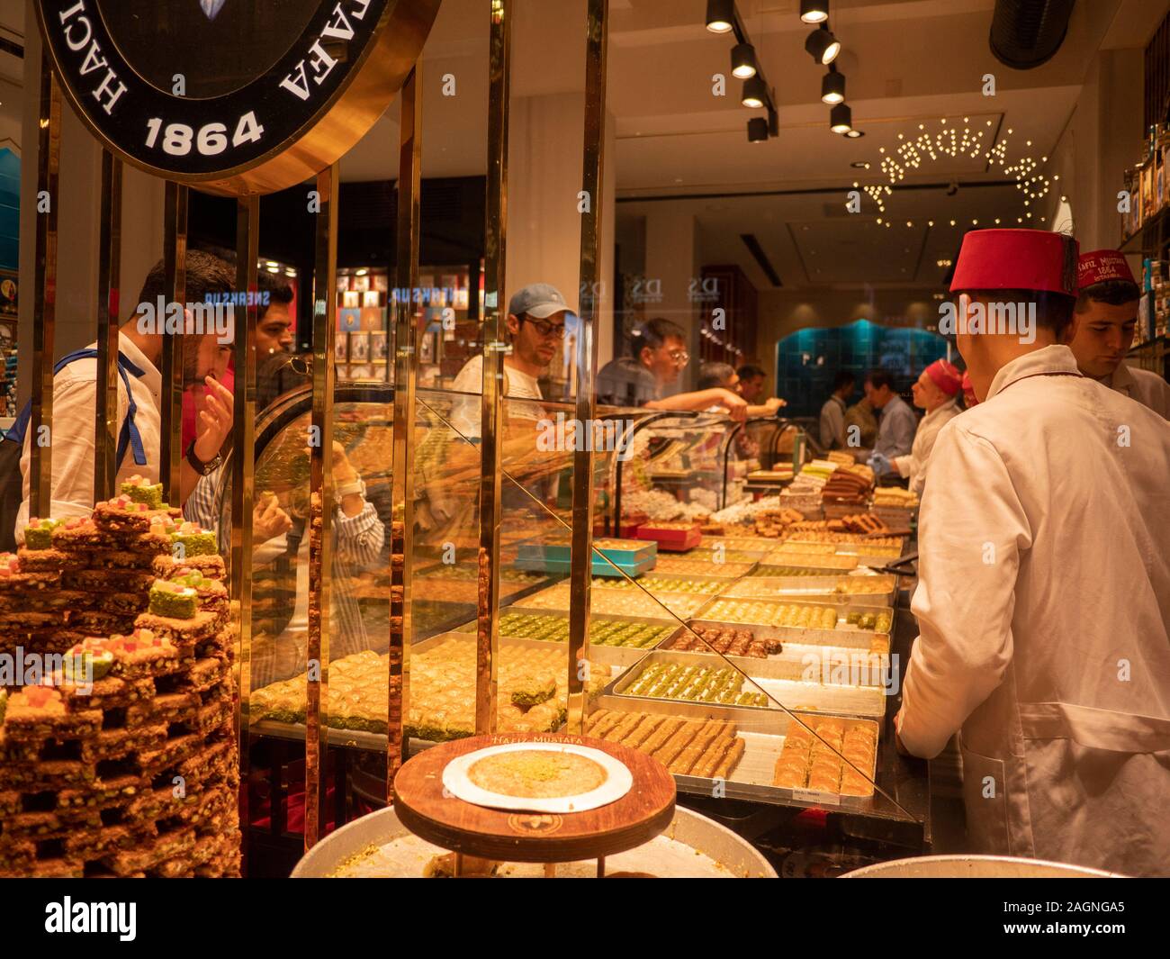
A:
[[[498,753],[517,752],[549,752],[549,753],[574,753],[576,755],[590,759],[605,769],[605,782],[587,793],[579,793],[572,796],[555,796],[549,799],[534,799],[528,796],[509,796],[503,793],[491,793],[476,786],[468,776],[472,766],[481,759],[496,755]],[[443,788],[456,799],[470,802],[474,806],[486,806],[490,809],[512,809],[524,813],[583,813],[586,809],[597,809],[617,802],[634,785],[634,778],[624,762],[618,761],[600,749],[592,749],[589,746],[578,746],[572,742],[509,742],[504,746],[489,746],[486,749],[476,749],[457,759],[453,759],[442,770]]]

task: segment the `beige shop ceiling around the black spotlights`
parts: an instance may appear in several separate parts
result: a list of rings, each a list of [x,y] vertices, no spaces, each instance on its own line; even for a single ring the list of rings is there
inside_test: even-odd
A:
[[[757,237],[784,288],[935,286],[964,228],[1017,225],[1027,212],[1012,187],[983,157],[937,155],[908,170],[887,204],[893,226],[876,222],[867,198],[862,213],[844,208],[853,183],[886,181],[887,155],[920,132],[964,128],[982,143],[1007,141],[1009,160],[1038,162],[1060,138],[1096,50],[1144,46],[1170,2],[1093,0],[1076,4],[1055,57],[1033,70],[1011,70],[991,54],[993,0],[834,0],[831,23],[844,50],[838,68],[860,139],[828,130],[820,103],[824,68],[804,50],[808,27],[799,0],[737,0],[769,83],[775,88],[779,136],[749,144],[750,111],[730,77],[734,40],[703,27],[706,0],[611,0],[607,101],[615,118],[619,233],[629,218],[652,210],[647,197],[698,194],[688,201],[698,222],[706,262],[738,263],[758,288],[771,287],[741,240]],[[585,0],[518,0],[512,25],[512,96],[584,89]],[[487,152],[488,21],[482,0],[443,0],[424,54],[424,174],[482,174]],[[711,94],[711,75],[728,75],[728,96]],[[441,93],[454,75],[456,96]],[[983,95],[993,74],[996,95]],[[584,97],[583,97],[584,100]],[[947,118],[948,123],[941,123]],[[923,130],[920,130],[922,124]],[[1011,130],[1009,136],[1007,131]],[[397,104],[342,164],[346,179],[393,176]],[[994,138],[994,139],[992,139]],[[1031,142],[1031,143],[1030,143]],[[566,163],[579,146],[566,144]],[[870,163],[856,170],[854,162]],[[945,185],[966,189],[948,197]],[[792,196],[791,191],[819,190]],[[1057,187],[1059,190],[1059,187]],[[729,193],[749,193],[736,199]],[[711,196],[716,194],[716,196]],[[956,226],[950,226],[950,219]],[[927,226],[934,219],[935,226]],[[907,227],[907,221],[913,226]]]

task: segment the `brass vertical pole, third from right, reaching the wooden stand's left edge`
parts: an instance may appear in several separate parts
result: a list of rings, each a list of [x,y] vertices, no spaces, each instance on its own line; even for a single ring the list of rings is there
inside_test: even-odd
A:
[[[394,485],[390,536],[390,677],[386,735],[386,801],[406,761],[402,717],[411,696],[411,557],[414,542],[414,389],[418,382],[419,189],[422,167],[422,60],[402,84],[399,101],[398,241],[393,287],[394,316]],[[388,364],[387,364],[388,367]]]

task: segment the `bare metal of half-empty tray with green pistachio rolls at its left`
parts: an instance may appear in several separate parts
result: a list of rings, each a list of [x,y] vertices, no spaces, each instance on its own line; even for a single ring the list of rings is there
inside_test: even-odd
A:
[[[881,719],[886,714],[886,697],[878,686],[844,686],[826,685],[820,683],[805,683],[799,679],[776,679],[765,678],[758,674],[758,669],[765,660],[736,657],[735,665],[748,674],[744,689],[755,685],[759,691],[766,692],[777,703],[789,710],[799,712],[832,713],[835,715],[856,715]],[[655,663],[679,663],[686,666],[706,666],[708,669],[720,669],[718,659],[704,652],[675,652],[674,650],[654,650],[642,657],[641,669],[626,670],[617,679],[603,690],[603,694],[619,696],[632,703],[656,703],[656,701],[688,701],[688,700],[661,700],[660,697],[633,696],[626,692],[634,681],[642,674],[642,671]],[[757,674],[752,676],[742,664],[752,663],[757,666]],[[749,690],[750,691],[750,690]],[[697,704],[711,705],[711,704]],[[724,706],[723,708],[730,708]],[[750,712],[766,712],[777,710],[777,706],[738,706],[736,708]]]

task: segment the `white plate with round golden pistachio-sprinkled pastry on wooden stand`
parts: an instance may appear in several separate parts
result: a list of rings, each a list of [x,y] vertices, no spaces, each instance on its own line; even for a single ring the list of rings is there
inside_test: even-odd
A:
[[[474,806],[529,813],[583,813],[621,799],[629,769],[600,749],[573,742],[489,746],[457,756],[442,772],[448,793]]]

